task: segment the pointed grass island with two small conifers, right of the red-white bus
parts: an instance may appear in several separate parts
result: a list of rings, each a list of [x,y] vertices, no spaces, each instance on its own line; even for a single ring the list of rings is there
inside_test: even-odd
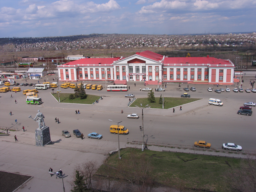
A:
[[[191,103],[193,101],[197,101],[200,99],[197,98],[182,98],[182,97],[166,97],[164,98],[164,109],[169,109],[172,107],[177,107],[186,103]],[[137,106],[146,106],[148,104],[148,106],[150,106],[151,108],[156,108],[156,109],[163,109],[163,104],[159,104],[159,97],[156,97],[156,103],[149,103],[149,101],[147,100],[147,98],[138,98],[136,99],[131,105],[130,107],[135,107],[135,105]]]

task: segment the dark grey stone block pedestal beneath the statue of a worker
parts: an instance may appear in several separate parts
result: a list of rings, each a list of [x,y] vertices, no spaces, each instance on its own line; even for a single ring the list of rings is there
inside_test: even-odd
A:
[[[47,144],[51,144],[51,135],[49,127],[44,126],[42,129],[37,128],[35,130],[35,145],[44,147]]]

